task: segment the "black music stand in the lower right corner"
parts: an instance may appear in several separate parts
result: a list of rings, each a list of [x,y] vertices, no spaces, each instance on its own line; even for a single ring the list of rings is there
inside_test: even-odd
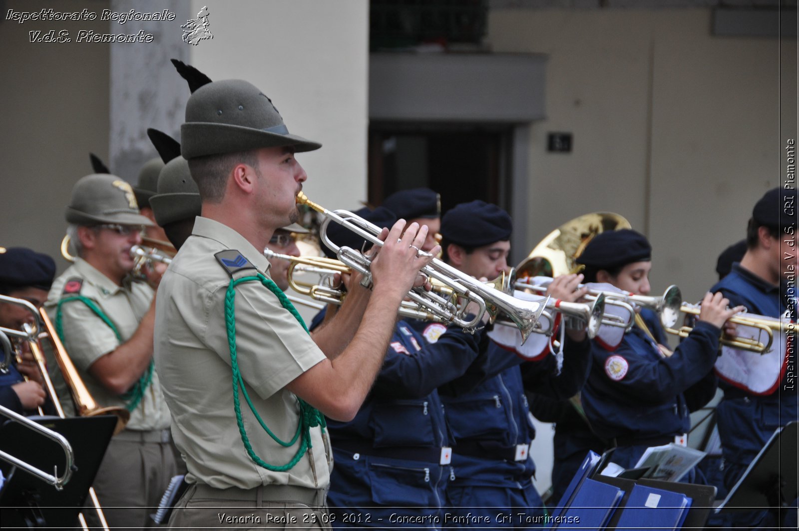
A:
[[[799,422],[774,431],[716,512],[767,509],[781,523],[781,509],[799,496],[797,442]]]

